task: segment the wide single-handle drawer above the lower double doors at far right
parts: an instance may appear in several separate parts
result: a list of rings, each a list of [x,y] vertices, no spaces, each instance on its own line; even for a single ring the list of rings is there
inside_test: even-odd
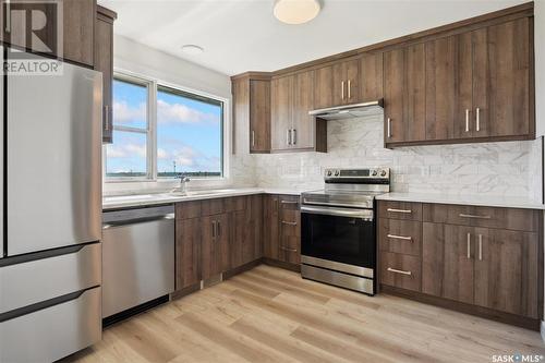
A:
[[[423,220],[436,223],[537,231],[540,210],[424,204]]]

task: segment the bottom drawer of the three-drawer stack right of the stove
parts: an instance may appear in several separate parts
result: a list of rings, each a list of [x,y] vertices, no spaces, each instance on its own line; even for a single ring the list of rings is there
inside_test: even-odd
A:
[[[421,259],[399,253],[380,253],[380,283],[420,291]]]

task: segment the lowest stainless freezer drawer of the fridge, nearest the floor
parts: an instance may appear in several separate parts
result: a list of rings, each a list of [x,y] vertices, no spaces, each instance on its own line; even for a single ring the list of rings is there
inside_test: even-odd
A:
[[[0,323],[0,362],[52,362],[101,338],[100,288]]]

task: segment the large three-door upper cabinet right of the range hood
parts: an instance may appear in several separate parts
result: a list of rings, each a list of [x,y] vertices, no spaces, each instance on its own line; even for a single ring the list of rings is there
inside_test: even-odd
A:
[[[407,62],[407,48],[405,55],[388,52],[386,145],[533,138],[531,29],[531,20],[522,17],[426,41],[424,74],[421,66],[409,70],[401,65]],[[407,97],[407,89],[398,84],[407,85],[411,77],[425,80],[425,92],[419,84],[422,97],[414,93],[413,102],[405,105],[399,99]],[[396,121],[405,120],[411,110],[417,111],[412,119],[417,132],[407,134],[399,130],[403,122]]]

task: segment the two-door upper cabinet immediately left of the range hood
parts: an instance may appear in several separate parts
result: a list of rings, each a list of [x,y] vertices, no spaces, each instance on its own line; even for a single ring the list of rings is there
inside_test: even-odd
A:
[[[315,71],[304,71],[271,83],[271,149],[326,152],[324,120],[308,114],[314,107]]]

